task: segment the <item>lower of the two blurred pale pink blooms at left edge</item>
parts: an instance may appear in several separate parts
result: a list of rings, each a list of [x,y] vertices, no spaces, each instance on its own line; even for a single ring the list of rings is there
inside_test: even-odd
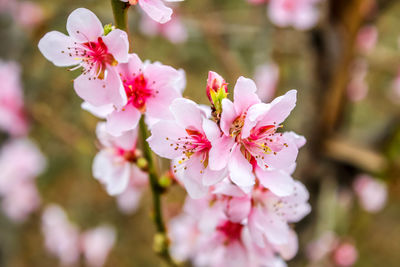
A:
[[[6,215],[24,221],[40,204],[35,178],[45,167],[38,148],[27,139],[14,139],[0,151],[0,196]]]

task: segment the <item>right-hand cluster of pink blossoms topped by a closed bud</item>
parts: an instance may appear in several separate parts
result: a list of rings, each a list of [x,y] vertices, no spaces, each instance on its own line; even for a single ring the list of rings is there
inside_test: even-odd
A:
[[[284,266],[282,259],[297,253],[289,224],[310,206],[307,190],[291,173],[305,139],[278,132],[296,91],[266,104],[256,90],[240,77],[232,102],[227,83],[210,72],[211,112],[180,98],[170,106],[174,119],[151,127],[150,147],[172,160],[191,197],[170,225],[177,259],[196,266]]]

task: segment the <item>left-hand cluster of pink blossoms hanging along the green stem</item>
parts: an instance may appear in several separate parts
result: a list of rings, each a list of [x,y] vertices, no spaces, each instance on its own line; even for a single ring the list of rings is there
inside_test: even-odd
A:
[[[140,3],[140,2],[139,2]],[[142,62],[129,54],[127,35],[102,27],[91,11],[79,8],[68,17],[67,31],[47,33],[39,42],[43,55],[56,66],[81,67],[74,89],[84,100],[82,108],[106,121],[97,127],[101,150],[93,175],[117,196],[120,209],[136,209],[147,174],[137,165],[137,126],[146,115],[149,126],[172,119],[169,105],[182,96],[185,74],[159,62]]]

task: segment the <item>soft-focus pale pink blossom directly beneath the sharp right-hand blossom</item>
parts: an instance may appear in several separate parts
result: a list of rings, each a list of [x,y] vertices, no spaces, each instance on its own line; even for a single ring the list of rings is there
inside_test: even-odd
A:
[[[307,203],[309,194],[303,184],[295,182],[291,195],[279,197],[260,186],[246,194],[224,180],[215,186],[213,194],[223,203],[230,221],[248,223],[250,235],[258,246],[273,244],[274,248],[285,251],[285,259],[297,253],[297,239],[288,223],[298,222],[311,211]]]

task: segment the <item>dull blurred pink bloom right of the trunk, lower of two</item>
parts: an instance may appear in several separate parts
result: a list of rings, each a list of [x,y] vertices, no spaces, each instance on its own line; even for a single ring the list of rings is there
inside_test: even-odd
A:
[[[353,102],[363,100],[368,94],[367,71],[368,64],[365,60],[359,59],[354,62],[350,82],[347,85],[347,96]]]

